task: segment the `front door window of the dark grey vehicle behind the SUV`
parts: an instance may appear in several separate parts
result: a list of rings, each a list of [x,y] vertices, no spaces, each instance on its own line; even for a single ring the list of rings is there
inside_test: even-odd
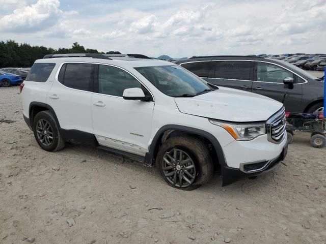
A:
[[[283,83],[288,77],[294,78],[294,74],[277,65],[257,62],[257,81]]]

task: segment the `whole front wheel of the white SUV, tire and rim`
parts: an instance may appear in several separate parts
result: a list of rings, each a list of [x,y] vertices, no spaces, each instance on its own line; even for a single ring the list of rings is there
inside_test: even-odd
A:
[[[207,146],[191,136],[168,139],[158,150],[156,167],[170,186],[182,190],[198,188],[214,173]]]

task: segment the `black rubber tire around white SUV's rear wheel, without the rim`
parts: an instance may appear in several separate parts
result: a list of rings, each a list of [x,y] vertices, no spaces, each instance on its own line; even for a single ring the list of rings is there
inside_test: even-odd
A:
[[[46,130],[43,131],[43,134],[42,134],[43,138],[45,137],[44,133],[49,133],[49,131],[51,131],[51,133],[52,133],[51,143],[44,143],[41,141],[42,137],[41,137],[41,139],[39,138],[39,134],[40,134],[39,128],[40,127],[38,127],[38,125],[40,125],[40,124],[38,124],[38,123],[41,123],[42,121],[47,122],[49,124],[49,128],[51,129],[51,130],[48,129],[48,132],[46,132]],[[48,125],[48,124],[46,124],[46,125]],[[46,151],[58,151],[65,147],[65,141],[62,139],[62,137],[60,135],[59,126],[57,125],[56,119],[55,119],[55,117],[53,117],[53,115],[50,111],[42,111],[35,115],[35,118],[33,120],[33,132],[34,132],[35,139],[36,139],[37,143],[39,144],[39,146]],[[50,134],[48,134],[48,135],[50,135]],[[49,139],[47,139],[47,140],[49,140]]]

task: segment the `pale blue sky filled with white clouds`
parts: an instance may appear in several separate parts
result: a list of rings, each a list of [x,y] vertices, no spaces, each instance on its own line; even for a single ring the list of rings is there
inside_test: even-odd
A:
[[[326,53],[326,0],[0,0],[0,41],[171,57]]]

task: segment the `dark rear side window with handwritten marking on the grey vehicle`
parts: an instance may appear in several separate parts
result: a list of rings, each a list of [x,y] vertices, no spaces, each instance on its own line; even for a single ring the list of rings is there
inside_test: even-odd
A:
[[[253,62],[248,61],[217,61],[215,66],[215,78],[251,80]]]

